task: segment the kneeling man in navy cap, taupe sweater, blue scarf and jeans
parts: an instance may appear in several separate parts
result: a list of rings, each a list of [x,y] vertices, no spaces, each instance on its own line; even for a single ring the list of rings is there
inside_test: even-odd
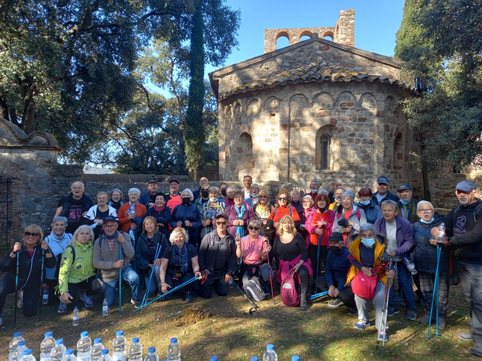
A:
[[[116,217],[107,216],[102,219],[104,234],[94,242],[92,260],[94,267],[100,270],[102,281],[105,283],[104,298],[107,298],[107,304],[110,306],[114,303],[121,269],[122,279],[131,286],[131,303],[138,308],[141,306],[139,275],[131,267],[130,262],[134,257],[134,247],[129,234],[117,231],[118,226],[119,220]]]

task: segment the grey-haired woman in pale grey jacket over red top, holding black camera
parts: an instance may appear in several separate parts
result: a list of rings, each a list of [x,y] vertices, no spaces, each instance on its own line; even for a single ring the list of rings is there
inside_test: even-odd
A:
[[[340,206],[335,213],[332,231],[343,233],[345,245],[355,236],[355,232],[360,232],[360,226],[366,223],[365,212],[359,206],[353,204],[354,200],[355,193],[351,191],[343,192]]]

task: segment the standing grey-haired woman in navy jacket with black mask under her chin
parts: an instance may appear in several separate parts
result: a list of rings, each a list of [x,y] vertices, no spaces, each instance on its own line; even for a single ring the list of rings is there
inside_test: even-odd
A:
[[[192,203],[194,196],[190,189],[181,193],[182,203],[174,207],[171,214],[171,227],[182,227],[189,234],[189,244],[197,247],[199,228],[201,227],[201,211]],[[169,238],[171,239],[171,238]]]

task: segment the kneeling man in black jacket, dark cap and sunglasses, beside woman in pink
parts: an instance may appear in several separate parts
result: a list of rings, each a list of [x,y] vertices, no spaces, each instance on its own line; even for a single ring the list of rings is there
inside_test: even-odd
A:
[[[207,280],[201,284],[201,296],[210,298],[213,290],[219,296],[228,294],[228,282],[233,279],[236,263],[236,241],[228,233],[228,216],[216,216],[216,228],[201,241],[198,252],[199,269],[208,270]]]

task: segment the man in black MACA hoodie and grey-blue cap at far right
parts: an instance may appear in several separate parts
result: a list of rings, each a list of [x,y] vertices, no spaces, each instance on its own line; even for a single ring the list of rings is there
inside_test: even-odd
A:
[[[456,185],[460,206],[442,219],[446,230],[442,244],[455,251],[460,282],[469,301],[470,331],[457,336],[464,341],[473,339],[472,353],[482,356],[482,200],[475,197],[476,188],[471,181]],[[438,227],[433,227],[431,233],[438,237]],[[436,241],[431,243],[436,245]]]

